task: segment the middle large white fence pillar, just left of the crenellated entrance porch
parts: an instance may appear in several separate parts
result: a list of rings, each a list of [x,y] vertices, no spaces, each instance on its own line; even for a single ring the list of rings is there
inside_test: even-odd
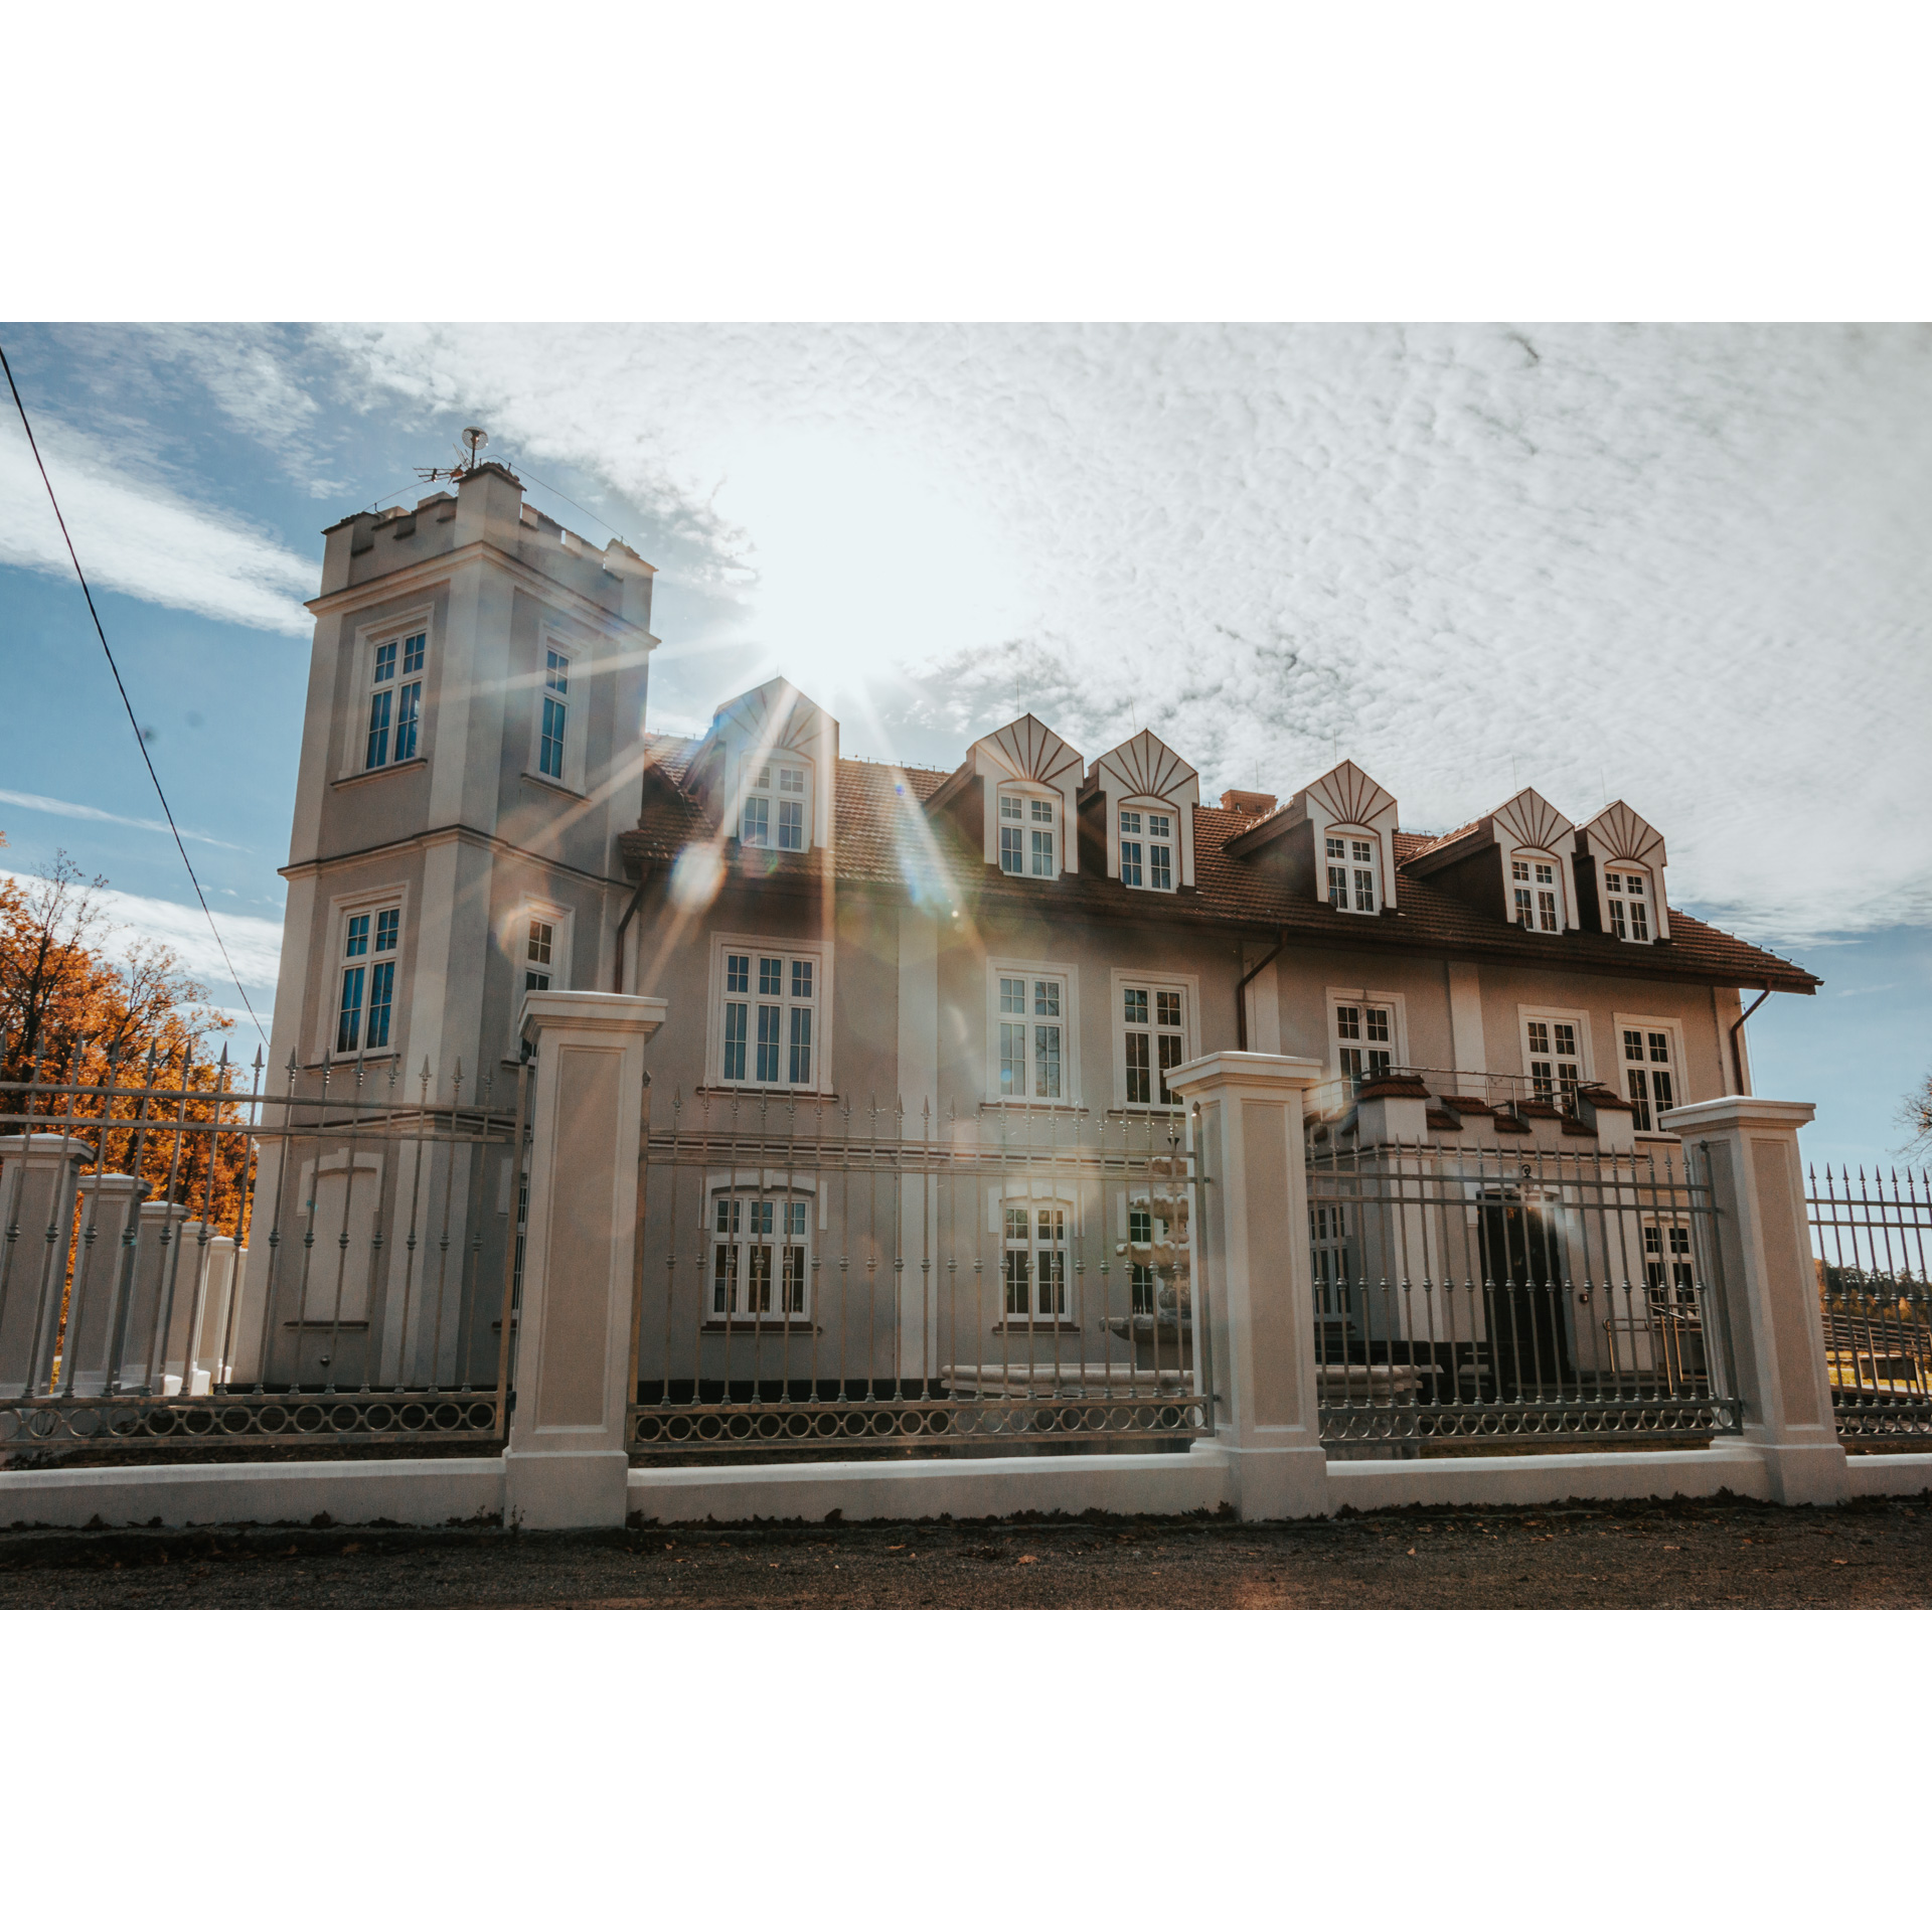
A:
[[[1200,1107],[1196,1320],[1206,1296],[1215,1441],[1250,1522],[1329,1511],[1302,1148],[1302,1095],[1325,1078],[1283,1053],[1209,1053],[1167,1076]]]

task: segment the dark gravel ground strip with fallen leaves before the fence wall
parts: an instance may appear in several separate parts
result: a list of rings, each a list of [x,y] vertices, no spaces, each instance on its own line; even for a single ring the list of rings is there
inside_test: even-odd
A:
[[[500,1530],[10,1530],[4,1609],[1907,1609],[1932,1507]]]

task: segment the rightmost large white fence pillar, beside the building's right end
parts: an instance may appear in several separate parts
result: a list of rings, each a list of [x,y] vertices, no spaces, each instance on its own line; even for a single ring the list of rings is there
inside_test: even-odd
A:
[[[1810,1101],[1727,1094],[1660,1115],[1685,1150],[1710,1155],[1718,1265],[1745,1399],[1745,1441],[1779,1503],[1841,1503],[1845,1451],[1832,1414],[1818,1271],[1804,1213],[1799,1128]]]

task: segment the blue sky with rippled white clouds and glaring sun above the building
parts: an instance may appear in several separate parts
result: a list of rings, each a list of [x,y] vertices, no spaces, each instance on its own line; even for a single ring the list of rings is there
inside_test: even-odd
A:
[[[661,728],[784,670],[867,757],[1034,709],[1208,790],[1352,755],[1443,829],[1627,798],[1673,898],[1824,974],[1760,1092],[1874,1157],[1932,1065],[1932,330],[10,327],[189,852],[272,993],[319,531],[483,423],[659,566]],[[6,862],[214,980],[15,419]],[[238,1005],[228,989],[224,1005]]]

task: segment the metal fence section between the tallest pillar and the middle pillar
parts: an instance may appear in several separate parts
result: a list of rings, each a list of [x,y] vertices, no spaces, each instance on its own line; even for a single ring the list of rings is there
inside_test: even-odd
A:
[[[1211,1432],[1179,1111],[730,1092],[657,1111],[636,1455]]]

